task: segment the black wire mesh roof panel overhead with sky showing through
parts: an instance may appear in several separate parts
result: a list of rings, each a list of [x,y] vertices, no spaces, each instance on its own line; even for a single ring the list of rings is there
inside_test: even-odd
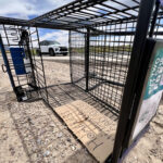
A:
[[[140,0],[75,0],[28,23],[58,29],[92,27],[101,23],[136,17],[139,3]]]

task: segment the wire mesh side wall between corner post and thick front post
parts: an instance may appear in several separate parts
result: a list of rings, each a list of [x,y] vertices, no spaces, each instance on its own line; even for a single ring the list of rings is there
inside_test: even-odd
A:
[[[136,20],[129,20],[96,27],[90,33],[89,92],[115,111],[121,108],[134,41],[134,33],[125,32],[135,32],[135,27]]]

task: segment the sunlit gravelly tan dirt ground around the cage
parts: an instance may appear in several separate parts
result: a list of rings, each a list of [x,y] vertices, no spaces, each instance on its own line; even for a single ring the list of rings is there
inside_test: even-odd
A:
[[[0,60],[0,64],[2,61]],[[70,82],[68,64],[45,62],[48,85]],[[0,68],[0,163],[96,163],[42,101],[18,103]],[[124,163],[163,162],[163,101]]]

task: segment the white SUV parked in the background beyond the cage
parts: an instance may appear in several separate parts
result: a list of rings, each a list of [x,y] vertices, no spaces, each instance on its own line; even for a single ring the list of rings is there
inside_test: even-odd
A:
[[[65,46],[60,45],[58,41],[43,40],[40,41],[41,53],[49,53],[50,55],[63,54],[67,55],[68,49]]]

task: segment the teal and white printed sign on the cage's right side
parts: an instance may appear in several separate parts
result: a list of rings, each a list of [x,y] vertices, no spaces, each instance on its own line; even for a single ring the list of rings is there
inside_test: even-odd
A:
[[[147,75],[140,112],[135,126],[133,139],[155,115],[163,92],[163,42],[158,41],[153,50]]]

